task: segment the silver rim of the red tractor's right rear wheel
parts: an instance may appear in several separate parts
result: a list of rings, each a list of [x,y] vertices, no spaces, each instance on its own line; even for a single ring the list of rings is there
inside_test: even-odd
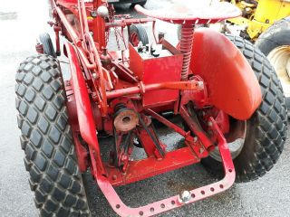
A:
[[[247,121],[243,121],[244,125],[242,128],[238,130],[242,130],[242,137],[237,137],[235,140],[228,142],[227,146],[230,151],[230,155],[232,156],[232,159],[236,159],[237,156],[241,153],[244,144],[245,144],[245,139],[246,139],[246,132],[247,132]],[[218,162],[222,162],[219,151],[218,151],[218,146],[215,147],[213,151],[209,153],[209,156],[217,160]]]

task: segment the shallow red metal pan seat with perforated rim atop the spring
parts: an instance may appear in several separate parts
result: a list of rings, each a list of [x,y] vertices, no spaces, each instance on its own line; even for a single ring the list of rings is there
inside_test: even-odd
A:
[[[136,5],[135,10],[140,14],[171,24],[214,24],[241,15],[237,6],[227,2],[205,4],[203,1],[189,1],[188,5],[179,3],[158,10],[147,10]]]

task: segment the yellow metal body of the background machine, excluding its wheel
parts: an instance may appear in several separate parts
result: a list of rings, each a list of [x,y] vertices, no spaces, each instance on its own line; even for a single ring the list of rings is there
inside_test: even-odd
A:
[[[230,1],[243,12],[243,17],[229,20],[232,24],[245,26],[250,39],[256,38],[276,21],[290,15],[290,0]]]

